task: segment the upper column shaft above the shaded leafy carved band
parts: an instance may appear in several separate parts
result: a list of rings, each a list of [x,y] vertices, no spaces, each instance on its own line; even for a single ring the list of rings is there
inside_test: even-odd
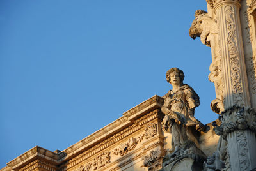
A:
[[[250,107],[250,96],[244,62],[243,40],[236,0],[215,2],[224,82],[225,108],[233,105]]]

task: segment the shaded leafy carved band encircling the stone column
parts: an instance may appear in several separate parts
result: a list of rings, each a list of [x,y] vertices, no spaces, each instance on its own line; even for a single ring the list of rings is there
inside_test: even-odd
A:
[[[253,108],[233,106],[227,108],[221,113],[221,125],[216,126],[214,131],[217,135],[223,135],[226,138],[228,133],[235,130],[252,130],[256,131],[256,112]]]

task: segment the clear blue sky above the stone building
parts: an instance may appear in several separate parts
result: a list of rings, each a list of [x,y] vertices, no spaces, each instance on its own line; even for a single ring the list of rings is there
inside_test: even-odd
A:
[[[66,149],[171,85],[178,67],[206,124],[211,49],[188,31],[204,1],[0,1],[0,168],[35,145]]]

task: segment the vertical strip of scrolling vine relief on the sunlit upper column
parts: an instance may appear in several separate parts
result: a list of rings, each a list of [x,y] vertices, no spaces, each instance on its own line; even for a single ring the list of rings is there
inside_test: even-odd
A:
[[[239,53],[237,50],[236,26],[234,22],[234,7],[225,6],[225,14],[227,17],[227,39],[228,51],[230,54],[230,70],[232,78],[232,93],[235,105],[243,105],[243,92],[240,76]]]

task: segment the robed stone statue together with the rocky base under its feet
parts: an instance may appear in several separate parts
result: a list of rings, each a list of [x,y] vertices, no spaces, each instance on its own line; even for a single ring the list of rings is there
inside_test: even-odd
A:
[[[168,70],[166,80],[173,89],[164,95],[162,124],[164,131],[172,133],[172,153],[166,155],[163,165],[189,156],[205,160],[197,140],[197,134],[204,130],[204,125],[194,117],[195,108],[200,103],[199,96],[189,85],[183,84],[184,73],[179,68]]]

